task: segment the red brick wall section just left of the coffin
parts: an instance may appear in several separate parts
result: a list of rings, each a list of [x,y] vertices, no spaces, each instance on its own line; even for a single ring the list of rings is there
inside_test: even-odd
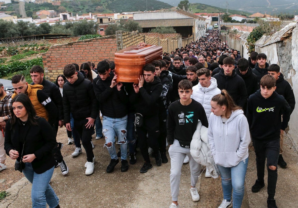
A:
[[[115,35],[51,46],[49,51],[42,55],[45,76],[51,81],[56,80],[58,75],[63,74],[64,66],[69,63],[80,66],[87,61],[97,64],[103,59],[114,60],[116,51]]]

